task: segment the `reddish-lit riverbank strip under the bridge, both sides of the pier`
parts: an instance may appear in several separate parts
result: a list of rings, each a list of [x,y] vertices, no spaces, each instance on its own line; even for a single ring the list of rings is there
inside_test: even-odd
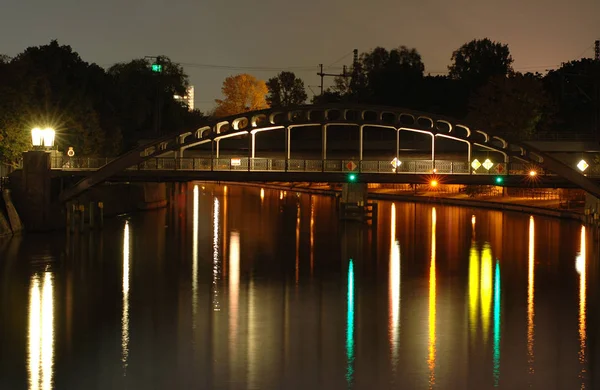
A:
[[[326,196],[339,196],[341,193],[339,189],[331,188],[331,185],[325,183],[313,186],[297,185],[294,183],[257,184],[230,182],[222,184],[295,191]],[[552,218],[571,219],[581,222],[585,222],[586,220],[583,208],[561,209],[560,199],[531,199],[525,197],[512,196],[469,197],[465,194],[446,194],[436,192],[419,192],[415,194],[399,192],[389,189],[373,188],[369,188],[369,198],[373,200],[432,203],[448,206],[473,207],[499,211],[515,211],[520,213],[546,216]]]

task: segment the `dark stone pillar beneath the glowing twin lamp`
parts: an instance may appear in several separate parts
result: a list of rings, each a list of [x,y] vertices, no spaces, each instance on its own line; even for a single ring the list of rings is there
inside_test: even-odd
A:
[[[23,171],[19,188],[21,217],[29,230],[46,230],[51,226],[50,153],[23,153]]]

